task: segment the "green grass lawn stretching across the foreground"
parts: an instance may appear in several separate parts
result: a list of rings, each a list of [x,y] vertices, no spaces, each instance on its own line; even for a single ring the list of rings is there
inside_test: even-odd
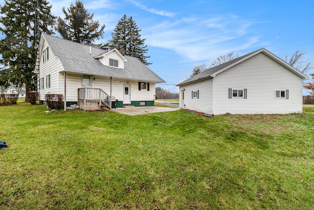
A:
[[[314,209],[305,114],[0,107],[0,209]]]

